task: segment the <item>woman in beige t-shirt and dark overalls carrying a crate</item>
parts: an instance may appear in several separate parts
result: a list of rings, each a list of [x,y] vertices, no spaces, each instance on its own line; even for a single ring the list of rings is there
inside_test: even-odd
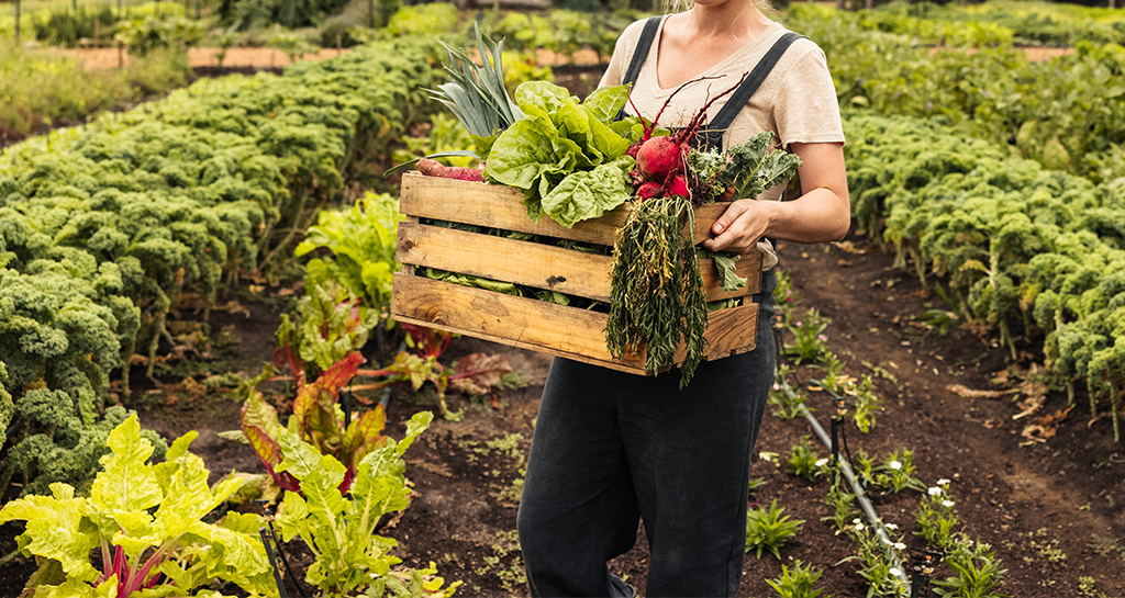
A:
[[[646,378],[555,360],[519,516],[536,596],[631,596],[606,561],[632,547],[638,520],[650,549],[647,596],[732,596],[741,582],[750,455],[774,375],[777,259],[765,239],[837,241],[850,224],[844,134],[825,55],[753,2],[696,0],[686,11],[633,24],[601,84],[634,81],[632,106],[651,119],[686,83],[660,117],[659,125],[675,127],[762,65],[747,78],[759,83],[748,84],[748,99],[744,90],[709,110],[712,146],[773,132],[801,157],[801,197],[772,201],[782,192],[772,189],[737,201],[703,243],[763,251],[757,348],[700,364],[684,390],[678,372]]]

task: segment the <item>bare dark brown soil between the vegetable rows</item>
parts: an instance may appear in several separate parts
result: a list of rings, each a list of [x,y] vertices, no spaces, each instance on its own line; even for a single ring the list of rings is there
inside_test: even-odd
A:
[[[584,79],[576,72],[564,84],[577,85]],[[996,550],[1007,570],[1005,594],[1125,596],[1125,510],[1119,508],[1125,502],[1125,448],[1114,443],[1107,418],[1090,422],[1082,397],[1068,410],[1066,397],[1059,392],[1046,393],[1035,413],[1016,418],[1024,409],[1014,395],[1001,392],[1020,388],[1035,361],[1042,360],[1022,354],[1011,361],[988,330],[952,327],[942,334],[918,321],[915,316],[946,307],[912,275],[896,269],[893,256],[876,251],[865,236],[853,234],[830,245],[782,243],[778,254],[800,298],[795,309],[816,308],[830,321],[825,334],[831,351],[846,363],[844,372],[871,375],[885,401],[870,433],[847,427],[853,454],[912,450],[915,475],[925,484],[952,480],[961,529]],[[262,284],[225,298],[231,302],[214,310],[202,328],[209,342],[170,353],[159,382],[146,381],[135,368],[133,395],[123,402],[140,411],[143,426],[168,438],[198,431],[192,450],[216,478],[231,470],[262,471],[248,447],[217,436],[237,426],[237,398],[227,392],[231,389],[204,392],[202,382],[228,372],[260,372],[273,350],[278,317],[296,289],[294,283]],[[528,591],[515,517],[550,357],[460,338],[443,361],[452,363],[474,352],[504,354],[523,383],[487,397],[449,397],[460,420],[436,419],[406,453],[413,504],[378,533],[398,541],[396,554],[406,564],[424,567],[433,561],[448,581],[461,581],[459,596],[522,597]],[[177,359],[182,355],[187,356]],[[798,368],[796,375],[812,378],[820,372]],[[983,395],[1000,398],[973,398]],[[812,395],[810,405],[827,427],[831,411],[827,397]],[[434,408],[432,391],[397,390],[388,406],[387,433],[400,435],[413,413]],[[778,454],[784,461],[790,448],[810,435],[802,419],[767,415],[755,451]],[[766,580],[777,578],[782,565],[795,560],[824,570],[817,587],[826,596],[865,596],[857,563],[844,561],[855,554],[855,546],[835,535],[830,523],[821,522],[830,515],[824,502],[827,483],[796,478],[784,465],[764,459],[755,460],[752,475],[765,480],[756,491],[758,504],[776,499],[786,515],[804,525],[783,546],[781,560],[747,555],[739,596],[774,595]],[[902,541],[911,564],[919,562],[925,549],[909,533],[916,528],[912,513],[921,496],[914,490],[871,496],[878,514],[906,531]],[[12,537],[18,533],[14,524],[0,527],[0,552],[15,547]],[[611,569],[644,595],[647,549],[642,532],[638,533],[637,546],[612,561]],[[296,545],[289,551],[298,569],[307,564],[307,552]],[[20,556],[0,565],[0,596],[18,595],[34,569]],[[951,574],[944,564],[935,573]]]

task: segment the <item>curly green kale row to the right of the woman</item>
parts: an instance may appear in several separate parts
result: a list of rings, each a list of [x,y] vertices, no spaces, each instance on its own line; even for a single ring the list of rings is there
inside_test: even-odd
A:
[[[846,118],[861,226],[954,306],[998,328],[1016,359],[1040,342],[1058,388],[1089,391],[1091,415],[1125,389],[1125,190],[1051,171],[933,121]]]

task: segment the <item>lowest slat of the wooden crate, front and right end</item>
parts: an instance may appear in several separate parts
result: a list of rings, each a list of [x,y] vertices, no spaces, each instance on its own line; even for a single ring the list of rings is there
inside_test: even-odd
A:
[[[394,275],[392,317],[447,332],[644,374],[644,352],[613,360],[605,347],[608,316],[595,311],[461,287],[404,273]],[[708,360],[755,346],[758,305],[708,315]],[[684,359],[684,348],[675,362]]]

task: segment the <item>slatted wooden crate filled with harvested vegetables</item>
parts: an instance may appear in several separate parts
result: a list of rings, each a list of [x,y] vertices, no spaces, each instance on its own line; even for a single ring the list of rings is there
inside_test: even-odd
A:
[[[709,236],[711,224],[726,208],[726,203],[696,208],[696,243]],[[644,351],[620,360],[610,356],[605,347],[605,314],[414,275],[415,266],[435,268],[609,302],[612,262],[609,255],[429,226],[420,220],[446,220],[613,245],[614,233],[626,219],[624,207],[578,223],[568,230],[546,216],[532,223],[519,189],[406,173],[399,210],[407,219],[398,225],[395,259],[403,263],[403,270],[394,275],[390,302],[394,319],[624,372],[645,373]],[[705,333],[709,360],[754,348],[758,306],[752,302],[750,296],[758,292],[762,282],[759,253],[744,255],[738,261],[737,272],[748,282],[735,291],[721,289],[712,262],[700,261],[708,300],[742,300],[737,307],[710,312]],[[683,357],[681,346],[676,363]]]

